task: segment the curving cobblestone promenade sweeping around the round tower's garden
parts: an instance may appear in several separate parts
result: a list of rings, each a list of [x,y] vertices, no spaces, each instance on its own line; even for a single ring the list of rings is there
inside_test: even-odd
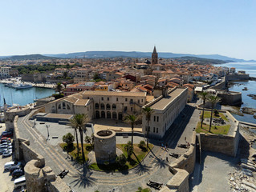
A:
[[[83,166],[67,159],[67,154],[59,146],[51,146],[46,142],[43,134],[33,128],[33,123],[28,120],[29,115],[18,118],[18,128],[22,138],[30,140],[30,145],[46,159],[46,166],[51,166],[58,174],[61,170],[70,170],[64,179],[71,188],[76,191],[136,191],[146,187],[148,180],[166,183],[172,174],[169,172],[168,163],[174,159],[169,156],[170,151],[184,153],[186,149],[177,148],[177,144],[191,141],[193,128],[199,119],[199,111],[193,106],[185,106],[180,116],[165,134],[164,143],[168,143],[168,150],[162,149],[161,141],[150,140],[155,146],[139,166],[123,173],[106,173],[94,170],[87,170]],[[168,157],[169,162],[167,162]],[[154,191],[154,190],[152,190]]]

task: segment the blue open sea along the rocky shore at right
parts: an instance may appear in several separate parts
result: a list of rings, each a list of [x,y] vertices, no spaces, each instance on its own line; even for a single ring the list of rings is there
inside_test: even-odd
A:
[[[221,65],[214,66],[227,66],[235,67],[236,71],[245,70],[246,74],[250,74],[250,77],[256,78],[256,62],[229,62]],[[247,87],[248,90],[242,90],[244,87]],[[256,100],[250,98],[247,94],[256,94],[256,81],[238,81],[234,82],[229,88],[230,91],[238,91],[242,93],[242,107],[247,106],[256,109]],[[238,121],[242,122],[252,122],[256,123],[256,119],[251,114],[244,114],[240,116],[238,114],[233,114],[234,118],[237,118]]]

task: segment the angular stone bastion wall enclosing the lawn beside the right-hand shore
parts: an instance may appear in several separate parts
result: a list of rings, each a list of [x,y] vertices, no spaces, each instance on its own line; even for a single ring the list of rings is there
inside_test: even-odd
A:
[[[230,112],[227,111],[226,114],[232,121],[234,121],[234,130],[230,130],[231,133],[228,135],[201,133],[201,149],[235,157],[238,151],[238,143],[240,138],[239,122],[233,117],[233,115],[230,114]]]

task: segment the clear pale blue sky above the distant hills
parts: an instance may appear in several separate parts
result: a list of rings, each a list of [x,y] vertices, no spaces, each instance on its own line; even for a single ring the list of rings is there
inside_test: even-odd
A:
[[[255,0],[0,0],[0,56],[90,50],[256,59]]]

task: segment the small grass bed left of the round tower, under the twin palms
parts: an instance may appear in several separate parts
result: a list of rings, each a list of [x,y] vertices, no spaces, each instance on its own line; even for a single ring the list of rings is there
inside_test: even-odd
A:
[[[65,150],[67,143],[60,143],[59,146],[61,146],[61,148],[63,148],[63,150]],[[81,148],[81,144],[79,143],[79,148]],[[65,150],[66,151],[66,150]],[[85,160],[88,160],[88,154],[91,151],[91,144],[83,144],[83,152],[84,152],[84,157]],[[82,149],[79,150],[79,157],[77,157],[77,148],[76,148],[76,143],[74,143],[74,148],[71,152],[69,152],[68,154],[71,155],[71,157],[73,157],[74,159],[76,159],[79,163],[83,163],[83,158],[82,158]]]

